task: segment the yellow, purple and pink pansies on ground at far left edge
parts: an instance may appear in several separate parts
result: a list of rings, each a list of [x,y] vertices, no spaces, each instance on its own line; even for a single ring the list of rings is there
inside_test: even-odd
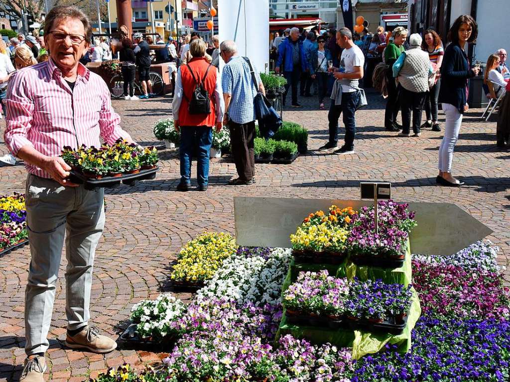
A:
[[[0,252],[27,241],[27,211],[24,195],[0,197]]]

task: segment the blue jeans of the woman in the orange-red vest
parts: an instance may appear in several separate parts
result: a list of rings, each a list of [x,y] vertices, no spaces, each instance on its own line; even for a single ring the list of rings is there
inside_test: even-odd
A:
[[[213,129],[209,126],[181,126],[181,183],[191,184],[191,156],[197,148],[196,179],[199,186],[207,186],[209,178],[209,150]]]

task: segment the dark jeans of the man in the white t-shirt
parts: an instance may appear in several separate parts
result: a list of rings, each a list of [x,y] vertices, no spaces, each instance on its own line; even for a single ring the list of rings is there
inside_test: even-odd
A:
[[[356,120],[354,113],[356,112],[356,104],[359,101],[359,92],[342,93],[342,105],[335,105],[335,100],[331,99],[331,106],[327,119],[329,121],[329,143],[337,143],[338,141],[338,119],[343,113],[343,121],[345,126],[345,148],[354,148],[354,135],[356,134]]]

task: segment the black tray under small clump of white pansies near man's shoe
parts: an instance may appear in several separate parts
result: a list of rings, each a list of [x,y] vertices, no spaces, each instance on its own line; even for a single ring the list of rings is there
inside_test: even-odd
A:
[[[152,338],[141,338],[136,333],[137,324],[131,320],[116,325],[117,333],[120,333],[117,344],[121,350],[147,350],[152,352],[164,352],[173,348],[175,339],[165,337],[163,341],[153,341]]]

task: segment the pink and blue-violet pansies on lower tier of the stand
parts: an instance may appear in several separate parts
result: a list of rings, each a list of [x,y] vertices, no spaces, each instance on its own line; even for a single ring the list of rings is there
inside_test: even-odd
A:
[[[382,281],[361,282],[331,277],[326,270],[301,272],[297,281],[284,292],[287,315],[328,317],[352,321],[388,321],[402,324],[411,306],[411,286],[384,284]],[[310,320],[314,324],[314,319]]]

